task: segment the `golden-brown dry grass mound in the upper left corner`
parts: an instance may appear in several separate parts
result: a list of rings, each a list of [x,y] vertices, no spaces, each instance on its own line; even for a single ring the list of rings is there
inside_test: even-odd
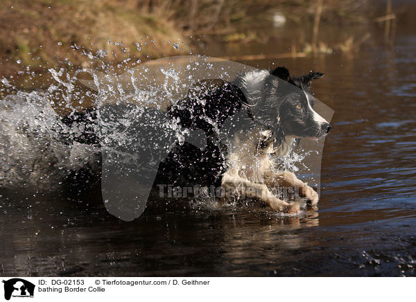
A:
[[[119,62],[128,55],[159,57],[187,51],[183,45],[179,50],[172,46],[185,39],[175,22],[146,10],[132,9],[131,1],[2,2],[5,5],[0,8],[0,73],[26,66],[46,68],[64,60],[80,65],[88,60],[84,50],[105,50],[107,60]],[[137,42],[144,51],[137,49]]]

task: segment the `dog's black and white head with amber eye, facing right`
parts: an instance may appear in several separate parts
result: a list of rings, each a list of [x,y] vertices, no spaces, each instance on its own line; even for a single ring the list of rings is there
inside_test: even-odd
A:
[[[263,76],[261,93],[250,107],[263,127],[272,130],[276,146],[288,136],[319,139],[331,129],[313,109],[311,82],[323,75],[311,71],[294,77],[285,67],[277,67]]]

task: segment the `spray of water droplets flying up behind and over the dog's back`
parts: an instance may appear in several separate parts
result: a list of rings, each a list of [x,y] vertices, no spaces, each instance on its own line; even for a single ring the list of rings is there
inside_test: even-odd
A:
[[[96,66],[106,66],[105,52],[85,55]],[[107,174],[114,169],[122,177],[135,175],[135,170],[154,172],[175,141],[190,140],[205,148],[205,134],[167,118],[168,106],[200,80],[230,81],[253,69],[200,56],[156,60],[125,68],[120,75],[66,64],[68,69],[49,69],[53,82],[45,89],[19,90],[7,78],[1,79],[0,92],[13,93],[0,100],[0,186],[57,188],[80,170],[99,172],[102,158]],[[79,76],[85,73],[88,79]],[[79,89],[80,83],[89,89]],[[214,121],[207,122],[217,129]],[[297,171],[306,155],[293,152],[279,164]]]

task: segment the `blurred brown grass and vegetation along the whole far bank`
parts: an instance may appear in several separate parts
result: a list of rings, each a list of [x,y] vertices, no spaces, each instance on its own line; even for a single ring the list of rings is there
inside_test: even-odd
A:
[[[318,23],[367,24],[374,15],[369,1],[325,0]],[[216,35],[230,43],[265,42],[267,37],[261,34],[265,21],[272,24],[273,18],[282,15],[285,24],[304,26],[314,20],[316,24],[317,3],[319,0],[1,0],[0,74],[65,61],[87,66],[87,53],[98,53],[111,62],[178,55],[198,48],[196,35]],[[259,24],[262,30],[257,30]]]

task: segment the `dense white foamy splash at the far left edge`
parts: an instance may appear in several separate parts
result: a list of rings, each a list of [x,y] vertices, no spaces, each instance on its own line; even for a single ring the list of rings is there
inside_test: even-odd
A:
[[[65,125],[48,91],[18,91],[0,103],[0,186],[51,188],[73,171],[96,167],[92,145],[67,143],[80,129]]]

